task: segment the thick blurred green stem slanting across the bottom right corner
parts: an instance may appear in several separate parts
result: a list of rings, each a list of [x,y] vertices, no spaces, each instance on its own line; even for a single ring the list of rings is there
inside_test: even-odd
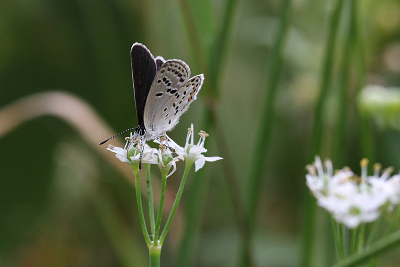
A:
[[[355,266],[398,244],[400,244],[400,230],[383,237],[372,245],[366,246],[364,250],[347,257],[332,267]]]

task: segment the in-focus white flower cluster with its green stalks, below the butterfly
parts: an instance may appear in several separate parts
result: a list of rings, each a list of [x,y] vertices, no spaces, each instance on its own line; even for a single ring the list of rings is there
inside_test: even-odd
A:
[[[204,131],[200,131],[198,134],[200,138],[196,144],[194,144],[193,136],[193,124],[188,128],[185,146],[179,146],[169,136],[164,133],[164,136],[160,137],[154,142],[159,144],[158,150],[151,148],[145,143],[142,143],[140,139],[134,138],[132,133],[129,137],[126,137],[126,144],[124,148],[108,145],[108,150],[115,153],[115,156],[130,165],[135,175],[135,191],[136,191],[136,202],[139,211],[139,219],[141,229],[143,231],[144,240],[148,246],[150,267],[159,267],[161,247],[164,242],[165,236],[172,223],[173,217],[176,213],[179,205],[180,198],[183,193],[183,188],[187,179],[187,175],[191,166],[195,165],[195,171],[202,168],[205,161],[216,161],[222,159],[219,156],[206,157],[202,153],[205,153],[207,149],[204,148],[205,138],[208,136]],[[144,147],[143,147],[144,145]],[[142,152],[140,157],[140,151]],[[173,154],[177,154],[173,156]],[[150,218],[150,232],[148,233],[146,223],[144,220],[143,206],[141,202],[140,194],[140,182],[139,182],[139,163],[144,164],[146,170],[146,181],[147,181],[147,193],[148,193],[148,206],[149,206],[149,218]],[[180,182],[178,191],[176,193],[175,201],[172,209],[169,213],[168,219],[161,231],[161,216],[162,209],[165,199],[166,180],[167,178],[176,171],[176,162],[185,161],[185,170],[183,173],[182,180]],[[154,207],[152,199],[152,187],[150,177],[150,164],[158,165],[161,172],[161,194],[160,202],[158,205],[158,211],[156,217],[154,217]],[[172,170],[171,170],[172,168]]]

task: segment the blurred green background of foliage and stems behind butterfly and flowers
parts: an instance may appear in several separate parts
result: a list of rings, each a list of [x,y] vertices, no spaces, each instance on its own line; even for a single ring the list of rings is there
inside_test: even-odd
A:
[[[304,166],[319,153],[355,172],[363,156],[400,169],[398,130],[361,118],[356,106],[366,84],[400,85],[400,1],[2,0],[0,112],[59,90],[91,106],[109,134],[136,126],[134,42],[205,74],[169,135],[183,145],[192,122],[210,133],[205,155],[225,158],[191,170],[161,266],[335,262]],[[132,183],[96,146],[109,135],[92,127],[89,140],[59,114],[22,107],[0,113],[0,266],[148,265]],[[182,172],[183,163],[168,178],[171,197]],[[378,265],[399,260],[394,249]]]

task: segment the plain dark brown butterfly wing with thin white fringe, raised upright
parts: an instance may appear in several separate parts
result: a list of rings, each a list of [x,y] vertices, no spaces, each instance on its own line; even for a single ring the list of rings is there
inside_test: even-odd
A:
[[[156,74],[156,64],[153,55],[141,43],[134,43],[130,49],[134,101],[136,105],[137,123],[144,126],[143,113],[147,94]]]

